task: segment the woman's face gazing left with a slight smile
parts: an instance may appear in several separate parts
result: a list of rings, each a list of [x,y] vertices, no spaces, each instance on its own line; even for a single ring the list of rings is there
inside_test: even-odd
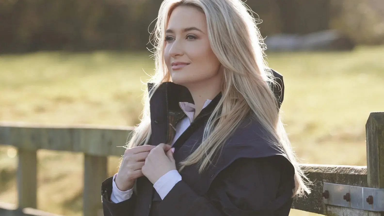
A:
[[[165,40],[164,60],[174,83],[188,87],[220,78],[203,12],[191,6],[174,8]]]

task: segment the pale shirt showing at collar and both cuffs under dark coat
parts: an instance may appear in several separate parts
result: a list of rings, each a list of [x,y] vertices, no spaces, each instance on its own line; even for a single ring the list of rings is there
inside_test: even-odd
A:
[[[203,108],[208,106],[208,104],[212,100],[205,100]],[[175,143],[175,141],[180,137],[180,135],[190,126],[191,122],[193,121],[193,116],[195,115],[195,105],[193,103],[188,102],[179,102],[180,108],[184,111],[185,118],[179,121],[176,125],[176,133],[175,137],[172,141],[172,145]],[[131,198],[133,194],[133,188],[129,189],[127,191],[121,191],[118,189],[115,183],[115,178],[117,176],[117,173],[113,176],[112,181],[112,194],[111,194],[111,201],[113,203],[120,203],[122,201],[125,201],[129,198]],[[153,187],[156,189],[157,193],[160,195],[161,199],[164,199],[166,195],[169,193],[169,191],[175,186],[177,182],[181,181],[181,175],[176,169],[170,170],[163,176],[161,176],[154,184]]]

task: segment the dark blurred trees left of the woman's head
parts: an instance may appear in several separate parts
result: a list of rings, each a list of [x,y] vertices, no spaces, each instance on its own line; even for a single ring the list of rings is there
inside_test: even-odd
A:
[[[160,0],[2,0],[0,52],[143,48]]]

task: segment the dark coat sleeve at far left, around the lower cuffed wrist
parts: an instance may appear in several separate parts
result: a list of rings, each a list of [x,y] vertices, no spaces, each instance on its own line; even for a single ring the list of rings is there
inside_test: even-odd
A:
[[[131,198],[120,203],[111,201],[113,176],[103,181],[101,184],[101,202],[103,203],[104,216],[126,216],[133,215],[136,204],[136,194],[133,193]]]

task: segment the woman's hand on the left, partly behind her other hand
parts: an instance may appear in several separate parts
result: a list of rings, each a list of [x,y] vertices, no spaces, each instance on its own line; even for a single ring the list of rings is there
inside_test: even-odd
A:
[[[125,150],[118,175],[115,178],[115,183],[119,190],[127,191],[133,188],[135,180],[143,176],[141,168],[144,166],[149,152],[155,147],[152,145],[142,145]]]

